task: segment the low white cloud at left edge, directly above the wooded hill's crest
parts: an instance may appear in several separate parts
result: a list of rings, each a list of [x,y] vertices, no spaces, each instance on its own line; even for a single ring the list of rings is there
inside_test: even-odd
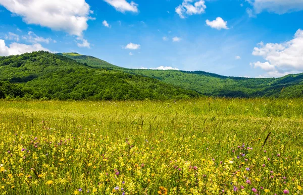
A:
[[[29,53],[33,51],[49,51],[48,49],[42,47],[42,45],[36,43],[32,45],[20,44],[20,43],[12,43],[9,46],[5,44],[5,41],[0,39],[0,56],[8,56],[8,55],[19,55],[22,53]]]

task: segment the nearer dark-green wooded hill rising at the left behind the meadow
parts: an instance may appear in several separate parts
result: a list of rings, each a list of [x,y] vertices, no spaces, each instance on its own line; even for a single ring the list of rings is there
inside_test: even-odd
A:
[[[0,98],[165,100],[200,96],[192,90],[112,70],[103,64],[105,67],[97,68],[44,51],[0,57]]]

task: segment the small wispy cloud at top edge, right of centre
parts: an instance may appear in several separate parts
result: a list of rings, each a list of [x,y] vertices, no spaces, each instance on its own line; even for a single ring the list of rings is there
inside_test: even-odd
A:
[[[180,18],[186,18],[194,14],[203,14],[205,9],[206,5],[203,0],[183,0],[182,4],[175,9],[175,12]]]

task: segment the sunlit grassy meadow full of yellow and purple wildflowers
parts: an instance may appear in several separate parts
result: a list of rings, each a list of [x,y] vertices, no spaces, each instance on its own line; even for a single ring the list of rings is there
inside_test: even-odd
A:
[[[0,194],[302,194],[302,99],[0,101]]]

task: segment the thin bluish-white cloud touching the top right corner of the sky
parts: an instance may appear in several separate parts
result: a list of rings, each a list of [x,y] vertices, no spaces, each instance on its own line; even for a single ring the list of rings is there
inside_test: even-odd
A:
[[[267,11],[276,14],[285,14],[303,10],[302,0],[251,0],[248,1],[257,14]]]

